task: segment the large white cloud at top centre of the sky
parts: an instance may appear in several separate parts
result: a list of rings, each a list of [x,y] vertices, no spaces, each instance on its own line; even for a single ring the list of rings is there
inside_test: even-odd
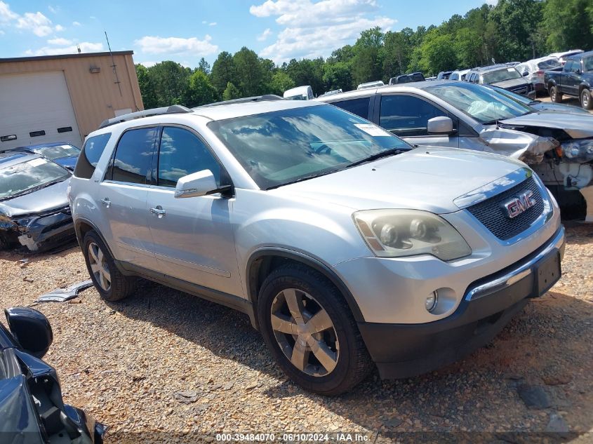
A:
[[[274,62],[291,58],[317,58],[354,43],[361,31],[379,26],[383,31],[397,20],[377,13],[376,0],[267,0],[251,6],[255,17],[276,17],[285,28],[260,55]],[[263,35],[263,34],[262,34]],[[260,36],[261,37],[261,36]]]

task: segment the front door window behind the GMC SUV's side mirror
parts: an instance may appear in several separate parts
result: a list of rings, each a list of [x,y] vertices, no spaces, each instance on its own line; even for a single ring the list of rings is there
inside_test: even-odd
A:
[[[220,164],[199,137],[182,128],[166,127],[159,151],[159,185],[175,187],[180,177],[211,170],[220,185]]]

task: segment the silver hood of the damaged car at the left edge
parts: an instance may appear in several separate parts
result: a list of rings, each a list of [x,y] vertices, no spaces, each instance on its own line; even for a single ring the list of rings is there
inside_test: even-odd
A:
[[[15,217],[63,208],[68,205],[66,190],[70,179],[0,202],[0,215]]]

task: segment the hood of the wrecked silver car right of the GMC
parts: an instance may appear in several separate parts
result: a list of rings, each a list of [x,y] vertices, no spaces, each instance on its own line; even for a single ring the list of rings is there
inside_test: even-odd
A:
[[[587,114],[554,114],[531,113],[500,121],[505,125],[514,126],[539,126],[542,128],[558,128],[566,131],[573,139],[593,137],[593,115]]]

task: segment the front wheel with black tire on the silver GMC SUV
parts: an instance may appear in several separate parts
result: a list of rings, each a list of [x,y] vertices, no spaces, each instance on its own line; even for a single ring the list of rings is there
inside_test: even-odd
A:
[[[304,389],[339,395],[372,368],[348,304],[325,276],[308,267],[289,265],[267,276],[258,321],[276,363]]]

